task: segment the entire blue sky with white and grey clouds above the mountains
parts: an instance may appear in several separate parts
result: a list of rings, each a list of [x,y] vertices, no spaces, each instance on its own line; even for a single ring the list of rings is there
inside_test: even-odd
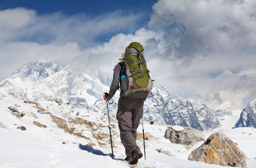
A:
[[[256,98],[256,1],[0,1],[0,80],[50,59],[113,75],[125,47],[144,46],[154,86],[171,96]]]

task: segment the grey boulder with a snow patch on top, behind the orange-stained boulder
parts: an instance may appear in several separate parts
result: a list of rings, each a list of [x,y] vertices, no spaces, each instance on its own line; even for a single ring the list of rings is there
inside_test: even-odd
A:
[[[205,134],[202,131],[191,127],[183,127],[183,131],[175,131],[169,127],[165,131],[165,138],[171,143],[189,145],[193,142],[205,141]]]

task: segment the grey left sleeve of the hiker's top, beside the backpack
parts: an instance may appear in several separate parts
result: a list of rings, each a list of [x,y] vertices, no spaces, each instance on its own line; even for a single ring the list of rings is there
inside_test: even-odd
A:
[[[115,95],[115,92],[118,89],[119,80],[120,80],[120,65],[117,64],[114,68],[113,80],[110,85],[109,94],[107,96],[108,100],[110,100]]]

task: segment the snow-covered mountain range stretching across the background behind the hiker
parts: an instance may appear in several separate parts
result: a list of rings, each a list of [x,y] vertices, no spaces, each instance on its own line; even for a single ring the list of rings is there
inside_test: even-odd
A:
[[[74,102],[91,111],[106,113],[102,100],[109,91],[111,79],[95,71],[91,74],[72,74],[68,66],[63,68],[53,61],[36,61],[26,64],[0,82],[0,98],[11,97],[21,100],[49,100],[60,97],[64,103]],[[230,101],[222,102],[219,94],[205,96],[178,94],[172,99],[168,91],[159,86],[144,102],[146,122],[181,125],[198,130],[226,131],[233,127],[256,128],[256,99],[243,109],[236,108]],[[117,91],[109,113],[115,116],[119,99]],[[241,112],[242,111],[242,112]]]

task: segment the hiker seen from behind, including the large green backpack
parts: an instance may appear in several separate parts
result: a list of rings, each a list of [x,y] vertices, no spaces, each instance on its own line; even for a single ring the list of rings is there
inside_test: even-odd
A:
[[[129,46],[126,47],[126,49],[125,49],[126,52],[122,53],[121,58],[119,58],[120,62],[117,65],[115,65],[115,68],[114,68],[113,80],[112,80],[112,83],[110,86],[109,93],[106,95],[103,95],[103,99],[105,101],[109,101],[115,95],[115,92],[119,89],[119,82],[122,83],[121,88],[120,88],[121,92],[120,92],[120,97],[119,97],[119,101],[118,101],[118,110],[117,110],[117,114],[116,114],[116,119],[118,120],[118,126],[120,129],[120,138],[124,145],[125,153],[127,156],[125,158],[125,160],[128,161],[130,164],[136,164],[138,162],[138,159],[140,159],[142,157],[142,152],[136,144],[137,128],[140,124],[140,119],[143,117],[144,101],[146,100],[148,93],[151,92],[150,90],[152,89],[152,85],[153,85],[152,80],[150,79],[150,76],[148,73],[149,71],[147,69],[145,69],[146,61],[143,58],[144,57],[143,47],[142,47],[142,49],[139,48],[139,50],[140,50],[139,51],[139,50],[133,48],[133,47],[136,47],[136,45],[142,47],[142,45],[140,43],[133,42]],[[132,54],[129,52],[132,52]],[[138,54],[133,55],[134,52],[138,53]],[[124,85],[124,83],[126,83],[126,85],[127,85],[127,83],[129,83],[129,77],[131,78],[131,76],[129,76],[129,75],[131,75],[131,73],[132,73],[132,71],[134,71],[134,69],[135,69],[135,71],[133,74],[137,73],[136,68],[135,68],[136,63],[134,63],[134,65],[132,66],[132,67],[134,67],[133,70],[129,70],[129,67],[127,66],[129,71],[126,72],[127,68],[125,66],[125,58],[126,58],[125,56],[126,57],[130,56],[131,58],[133,58],[133,61],[135,59],[136,60],[140,59],[140,61],[142,60],[141,64],[144,64],[144,66],[142,68],[142,66],[137,65],[138,73],[139,73],[139,75],[141,75],[143,73],[145,74],[144,76],[146,76],[145,78],[147,79],[147,80],[145,80],[146,85],[149,86],[149,87],[146,87],[145,89],[148,89],[148,90],[136,91],[135,89],[136,88],[138,89],[138,87],[135,86],[135,84],[134,84],[134,86],[131,86],[131,87],[128,84],[128,86],[126,86],[126,89],[125,89],[125,86],[122,86],[122,85]],[[127,74],[128,74],[128,77],[127,77]],[[124,78],[124,79],[122,79],[122,78]],[[134,75],[133,75],[133,78],[134,78]],[[148,84],[149,79],[150,79],[150,84]],[[135,83],[136,83],[136,81],[135,81]],[[132,94],[132,91],[129,90],[128,88],[134,88],[134,87],[135,87],[135,89],[133,90],[133,94]],[[135,95],[135,91],[136,91],[136,95]],[[127,92],[129,92],[129,93],[127,93]],[[152,94],[152,92],[151,92],[151,94]]]

